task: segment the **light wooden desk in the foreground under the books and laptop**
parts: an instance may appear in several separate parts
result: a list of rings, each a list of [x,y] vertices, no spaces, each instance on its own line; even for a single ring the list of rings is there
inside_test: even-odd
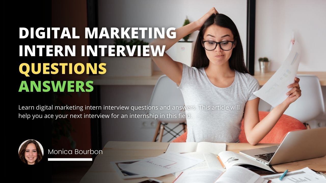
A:
[[[239,152],[239,150],[262,148],[274,146],[275,144],[258,144],[251,146],[248,143],[226,143],[227,150]],[[136,183],[148,178],[137,178],[123,180],[121,179],[112,168],[110,162],[121,160],[135,160],[154,157],[165,152],[169,142],[108,142],[103,148],[103,154],[97,155],[93,165],[88,172],[82,177],[82,183],[95,183],[95,182],[128,182]],[[290,162],[279,165],[274,165],[274,169],[278,172],[284,172],[286,169],[294,171],[309,167],[316,171],[326,172],[326,156],[310,160],[303,160],[298,162]],[[173,182],[175,176],[172,174],[156,178],[165,183]]]

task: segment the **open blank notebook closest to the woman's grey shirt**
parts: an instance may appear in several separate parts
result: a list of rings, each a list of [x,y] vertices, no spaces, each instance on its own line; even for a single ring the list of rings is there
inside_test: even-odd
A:
[[[187,152],[209,152],[218,154],[226,150],[225,143],[212,142],[171,142],[166,149],[166,152],[173,151],[178,153]]]

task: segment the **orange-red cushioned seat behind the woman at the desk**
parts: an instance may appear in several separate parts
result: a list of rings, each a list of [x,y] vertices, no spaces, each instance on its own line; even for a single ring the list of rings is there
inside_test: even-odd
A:
[[[262,120],[267,116],[269,112],[259,111],[259,120]],[[271,143],[280,144],[285,135],[290,131],[304,130],[306,127],[299,120],[283,114],[277,121],[273,129],[259,142],[259,143]],[[172,142],[185,142],[187,139],[187,132],[175,138]],[[241,132],[239,135],[241,143],[248,143],[244,134],[244,120],[241,122]]]

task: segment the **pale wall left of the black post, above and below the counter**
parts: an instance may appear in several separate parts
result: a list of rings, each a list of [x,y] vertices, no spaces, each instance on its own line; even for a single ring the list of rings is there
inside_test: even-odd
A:
[[[229,16],[236,24],[244,53],[246,50],[246,0],[119,0],[98,1],[99,27],[176,27],[183,25],[186,16],[193,22],[202,17],[210,8]],[[198,31],[189,41],[195,40]],[[144,39],[150,42],[150,39]],[[99,45],[113,44],[112,39],[102,39]],[[176,56],[170,51],[170,56]],[[149,103],[154,86],[101,86],[101,105],[134,105]],[[117,114],[131,111],[102,111]],[[145,112],[145,111],[139,111]],[[143,128],[144,119],[106,119],[102,120],[102,144],[109,141],[152,141],[155,128]],[[178,128],[180,130],[180,128]],[[171,136],[166,136],[167,141]]]

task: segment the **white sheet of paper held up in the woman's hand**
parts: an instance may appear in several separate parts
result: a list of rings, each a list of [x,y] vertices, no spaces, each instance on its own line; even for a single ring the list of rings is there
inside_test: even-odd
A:
[[[289,84],[294,83],[299,67],[301,48],[298,41],[295,41],[288,57],[275,74],[254,94],[273,107],[281,104],[289,95],[286,95],[292,88]]]

